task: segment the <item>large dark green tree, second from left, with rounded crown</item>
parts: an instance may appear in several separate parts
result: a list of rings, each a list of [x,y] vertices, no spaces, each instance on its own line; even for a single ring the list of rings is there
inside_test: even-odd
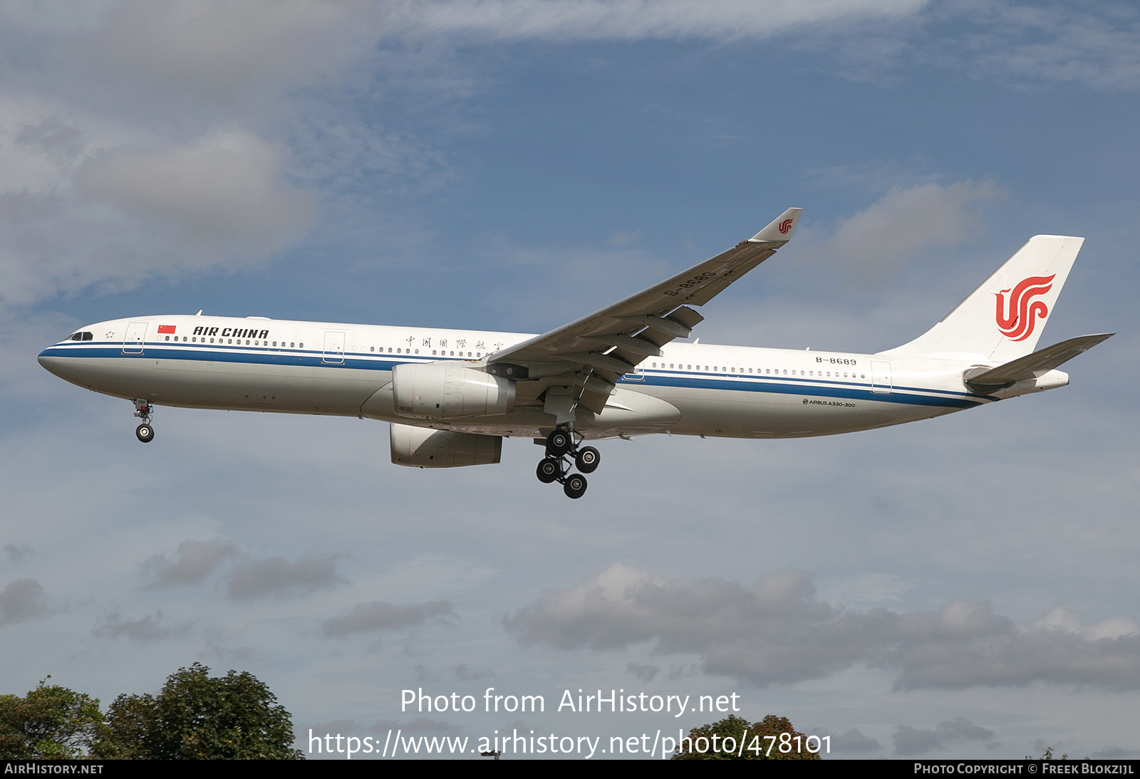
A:
[[[121,695],[107,710],[95,754],[136,760],[301,760],[290,713],[243,671],[210,676],[195,663],[157,696]]]

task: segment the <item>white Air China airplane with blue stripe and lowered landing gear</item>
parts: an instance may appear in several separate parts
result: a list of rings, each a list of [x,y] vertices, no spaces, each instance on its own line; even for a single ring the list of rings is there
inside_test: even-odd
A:
[[[708,304],[787,244],[788,208],[726,252],[542,335],[164,314],[89,325],[43,350],[56,376],[155,405],[351,416],[390,424],[392,462],[499,462],[504,437],[545,448],[536,474],[570,498],[601,453],[651,433],[783,438],[929,419],[1068,384],[1057,368],[1110,337],[1034,351],[1083,238],[1034,236],[918,338],[874,354],[685,343]],[[578,473],[573,473],[573,469]]]

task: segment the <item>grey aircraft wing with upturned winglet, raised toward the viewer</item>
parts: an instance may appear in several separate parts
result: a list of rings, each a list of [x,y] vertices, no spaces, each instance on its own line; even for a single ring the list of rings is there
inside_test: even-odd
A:
[[[562,377],[575,399],[601,413],[618,377],[674,338],[687,338],[705,318],[705,305],[728,285],[772,256],[796,230],[803,208],[788,208],[772,223],[727,252],[649,289],[488,358],[488,372],[520,380]],[[552,385],[557,379],[552,380]]]

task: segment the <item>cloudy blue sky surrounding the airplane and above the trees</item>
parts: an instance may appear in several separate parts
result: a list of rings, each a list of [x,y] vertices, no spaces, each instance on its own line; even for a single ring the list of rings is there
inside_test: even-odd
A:
[[[709,719],[399,711],[625,688],[738,691],[837,756],[1137,754],[1131,6],[13,3],[0,35],[3,691],[201,661],[299,731]],[[355,419],[161,409],[144,448],[34,360],[198,309],[537,333],[788,206],[702,342],[889,348],[1035,233],[1086,237],[1044,343],[1118,335],[969,415],[610,442],[573,502],[529,442],[409,470]]]

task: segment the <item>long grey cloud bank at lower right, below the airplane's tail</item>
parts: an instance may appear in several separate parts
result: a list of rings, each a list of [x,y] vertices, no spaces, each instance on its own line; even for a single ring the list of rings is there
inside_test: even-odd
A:
[[[523,643],[565,649],[650,642],[658,653],[699,655],[706,673],[758,686],[866,664],[897,671],[896,689],[1037,681],[1140,688],[1140,634],[1097,638],[1105,628],[1054,623],[1018,628],[990,604],[968,600],[934,612],[842,610],[817,600],[798,572],[762,576],[746,588],[717,579],[662,580],[614,564],[577,588],[547,592],[504,624]],[[1118,630],[1125,623],[1112,624]]]

